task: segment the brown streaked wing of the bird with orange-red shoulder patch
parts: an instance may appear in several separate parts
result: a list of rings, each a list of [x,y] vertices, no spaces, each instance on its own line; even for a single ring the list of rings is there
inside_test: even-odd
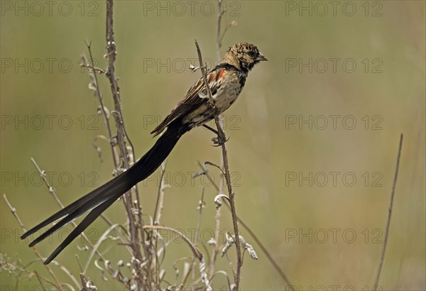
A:
[[[209,83],[212,94],[214,94],[213,92],[217,90],[219,79],[224,75],[224,72],[226,72],[226,69],[219,66],[208,72],[207,82]],[[173,111],[170,112],[170,114],[163,120],[163,122],[161,122],[151,133],[155,133],[154,136],[157,136],[172,121],[180,119],[180,117],[185,116],[187,113],[197,109],[204,102],[207,102],[207,98],[204,79],[201,78],[188,90],[187,94],[185,94],[185,98],[179,102],[176,108],[173,109]]]

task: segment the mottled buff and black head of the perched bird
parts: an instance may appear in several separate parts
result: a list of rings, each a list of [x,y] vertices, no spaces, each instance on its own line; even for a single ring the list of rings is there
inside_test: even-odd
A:
[[[237,43],[226,51],[224,60],[239,70],[249,71],[258,62],[268,60],[252,43]]]

